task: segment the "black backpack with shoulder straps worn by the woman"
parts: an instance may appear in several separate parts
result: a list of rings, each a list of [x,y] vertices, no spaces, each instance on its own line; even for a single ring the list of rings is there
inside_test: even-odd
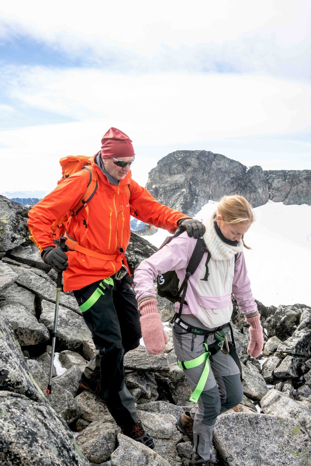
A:
[[[184,230],[182,230],[181,228],[178,228],[176,230],[176,233],[173,236],[167,236],[165,241],[159,247],[158,251],[160,249],[162,249],[163,246],[170,243],[174,238],[176,238],[177,236],[179,236],[183,232],[184,232]],[[193,252],[192,256],[190,257],[189,263],[187,265],[185,279],[182,282],[180,288],[178,288],[179,280],[178,280],[178,277],[177,277],[177,274],[176,274],[175,270],[171,270],[169,272],[166,272],[165,274],[159,274],[157,276],[158,295],[162,296],[162,297],[164,297],[164,298],[166,298],[169,301],[174,302],[174,303],[177,302],[177,301],[180,302],[179,313],[178,314],[175,313],[175,315],[174,315],[174,317],[173,317],[173,319],[171,321],[172,323],[177,318],[177,316],[180,317],[180,315],[181,315],[182,307],[183,307],[184,302],[185,302],[185,296],[186,296],[186,292],[187,292],[189,277],[192,274],[194,274],[195,270],[197,269],[198,265],[200,264],[200,261],[201,261],[201,259],[203,257],[203,254],[205,252],[208,253],[207,254],[207,260],[205,262],[206,272],[205,272],[204,278],[202,278],[201,280],[207,281],[208,280],[208,275],[209,275],[208,265],[207,264],[208,264],[208,261],[211,258],[211,255],[210,255],[209,251],[207,250],[207,248],[205,246],[205,242],[204,242],[204,240],[202,238],[197,239],[197,242],[196,242],[195,247],[194,247],[194,252]],[[187,304],[187,302],[185,302],[185,304]]]

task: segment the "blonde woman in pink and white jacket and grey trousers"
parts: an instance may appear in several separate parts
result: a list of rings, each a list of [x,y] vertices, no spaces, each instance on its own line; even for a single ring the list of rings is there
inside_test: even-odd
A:
[[[233,309],[231,293],[250,324],[248,353],[257,357],[263,349],[263,329],[243,254],[243,247],[249,249],[243,238],[254,220],[252,208],[242,196],[224,196],[220,200],[216,212],[203,222],[207,251],[189,278],[182,313],[173,323],[174,349],[193,390],[190,399],[197,402],[177,423],[194,444],[190,466],[211,464],[216,418],[242,400],[239,362],[230,343],[228,325]],[[151,354],[162,353],[167,343],[157,310],[154,279],[158,274],[176,270],[182,283],[195,244],[196,240],[182,233],[135,271],[141,329]],[[176,312],[179,308],[177,302]]]

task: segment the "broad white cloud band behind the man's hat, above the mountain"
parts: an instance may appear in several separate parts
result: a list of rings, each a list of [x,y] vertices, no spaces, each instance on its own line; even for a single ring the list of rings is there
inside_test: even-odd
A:
[[[7,95],[24,112],[51,111],[80,121],[1,131],[1,165],[10,159],[16,167],[14,186],[3,177],[2,191],[51,189],[60,174],[58,159],[93,155],[110,126],[131,137],[139,156],[153,157],[133,168],[145,177],[160,157],[183,144],[293,133],[311,123],[311,86],[301,82],[223,74],[122,76],[39,67],[19,71],[15,78],[11,74]],[[172,150],[163,147],[168,145]],[[250,158],[251,145],[244,159]]]

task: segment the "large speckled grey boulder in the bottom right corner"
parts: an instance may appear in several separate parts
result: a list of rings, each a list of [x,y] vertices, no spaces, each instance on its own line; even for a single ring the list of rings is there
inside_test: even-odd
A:
[[[221,415],[213,442],[225,465],[310,464],[310,438],[297,421],[288,418],[244,412]]]

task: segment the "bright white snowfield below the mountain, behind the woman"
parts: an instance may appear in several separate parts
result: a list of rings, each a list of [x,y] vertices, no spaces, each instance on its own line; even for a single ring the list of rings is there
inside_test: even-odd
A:
[[[212,215],[217,203],[208,201],[194,216]],[[265,306],[311,306],[311,206],[285,206],[269,201],[254,209],[256,222],[244,237],[244,248],[253,296]],[[144,236],[159,247],[167,236],[160,230]]]

